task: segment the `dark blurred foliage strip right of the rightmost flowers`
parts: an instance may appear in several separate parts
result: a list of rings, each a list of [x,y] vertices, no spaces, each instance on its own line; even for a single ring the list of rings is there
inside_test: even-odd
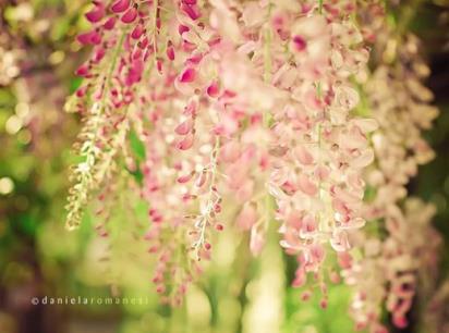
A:
[[[437,207],[434,224],[446,239],[439,276],[442,280],[449,273],[449,1],[422,5],[411,27],[423,40],[422,51],[432,71],[426,85],[434,91],[440,114],[426,133],[436,158],[420,169],[410,192]]]

